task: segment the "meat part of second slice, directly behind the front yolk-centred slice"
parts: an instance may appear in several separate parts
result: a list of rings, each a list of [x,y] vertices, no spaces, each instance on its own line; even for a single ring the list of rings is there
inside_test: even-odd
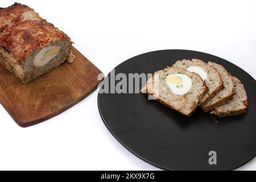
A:
[[[207,63],[205,63],[202,60],[199,59],[192,59],[192,60],[186,60],[183,59],[182,61],[176,61],[176,63],[173,65],[174,67],[179,67],[183,69],[189,69],[189,67],[200,67],[207,73],[207,79],[203,80],[205,81],[205,84],[208,87],[208,93],[205,94],[205,96],[202,99],[202,103],[209,100],[210,98],[216,96],[220,90],[223,89],[223,82],[221,80],[220,73],[214,68],[210,67]],[[196,72],[195,72],[196,73]],[[199,73],[197,73],[199,74]],[[200,75],[200,74],[199,74]]]

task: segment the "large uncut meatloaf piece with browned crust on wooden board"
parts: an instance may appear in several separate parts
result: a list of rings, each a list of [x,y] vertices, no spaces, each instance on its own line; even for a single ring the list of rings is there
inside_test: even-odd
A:
[[[0,63],[24,84],[72,63],[71,39],[26,5],[0,9]]]

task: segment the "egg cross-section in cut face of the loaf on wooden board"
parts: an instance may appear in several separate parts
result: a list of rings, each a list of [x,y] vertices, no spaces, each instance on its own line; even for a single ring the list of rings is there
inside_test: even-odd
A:
[[[38,52],[34,59],[35,67],[43,67],[60,52],[60,47],[49,46]]]

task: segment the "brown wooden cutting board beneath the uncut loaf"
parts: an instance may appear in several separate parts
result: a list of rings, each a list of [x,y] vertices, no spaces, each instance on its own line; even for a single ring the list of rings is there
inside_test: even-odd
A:
[[[24,85],[0,65],[0,103],[19,126],[46,121],[77,104],[100,84],[102,72],[76,48],[73,64],[59,68]]]

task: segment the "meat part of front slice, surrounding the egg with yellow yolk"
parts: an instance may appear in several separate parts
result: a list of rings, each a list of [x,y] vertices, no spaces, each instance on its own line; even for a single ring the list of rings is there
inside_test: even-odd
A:
[[[191,90],[183,96],[174,94],[166,84],[166,77],[175,74],[187,75],[192,80]],[[141,92],[146,92],[160,103],[189,117],[200,104],[204,94],[208,92],[208,88],[199,75],[182,68],[170,67],[155,72]]]

